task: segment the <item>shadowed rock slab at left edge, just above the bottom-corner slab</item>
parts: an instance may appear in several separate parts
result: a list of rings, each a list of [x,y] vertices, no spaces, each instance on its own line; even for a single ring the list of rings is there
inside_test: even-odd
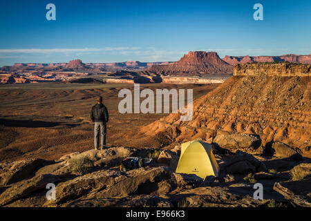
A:
[[[38,169],[53,161],[43,159],[27,159],[0,164],[0,185],[8,185],[33,177]]]

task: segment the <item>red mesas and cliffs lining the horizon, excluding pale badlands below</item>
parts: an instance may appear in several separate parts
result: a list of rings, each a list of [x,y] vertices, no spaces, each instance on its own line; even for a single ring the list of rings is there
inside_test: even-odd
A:
[[[112,63],[83,63],[80,59],[68,63],[16,63],[13,66],[3,66],[1,72],[26,73],[78,71],[88,73],[115,72],[119,70],[141,72],[143,75],[160,76],[208,76],[232,75],[234,64],[254,62],[290,61],[299,64],[311,64],[311,55],[280,55],[280,56],[229,56],[220,59],[217,52],[190,51],[178,61],[124,61]]]

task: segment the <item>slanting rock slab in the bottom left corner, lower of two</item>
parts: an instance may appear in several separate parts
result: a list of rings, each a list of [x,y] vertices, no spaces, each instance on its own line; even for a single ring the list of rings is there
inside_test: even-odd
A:
[[[0,195],[0,206],[6,205],[14,200],[25,198],[26,196],[46,189],[46,184],[59,181],[59,177],[50,174],[43,174],[12,184],[12,186]]]

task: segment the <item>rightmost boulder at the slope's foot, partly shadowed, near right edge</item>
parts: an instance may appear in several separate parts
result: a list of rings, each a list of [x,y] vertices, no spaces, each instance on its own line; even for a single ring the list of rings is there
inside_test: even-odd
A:
[[[281,142],[274,142],[272,148],[276,157],[288,157],[290,160],[303,160],[302,155],[294,148]]]

